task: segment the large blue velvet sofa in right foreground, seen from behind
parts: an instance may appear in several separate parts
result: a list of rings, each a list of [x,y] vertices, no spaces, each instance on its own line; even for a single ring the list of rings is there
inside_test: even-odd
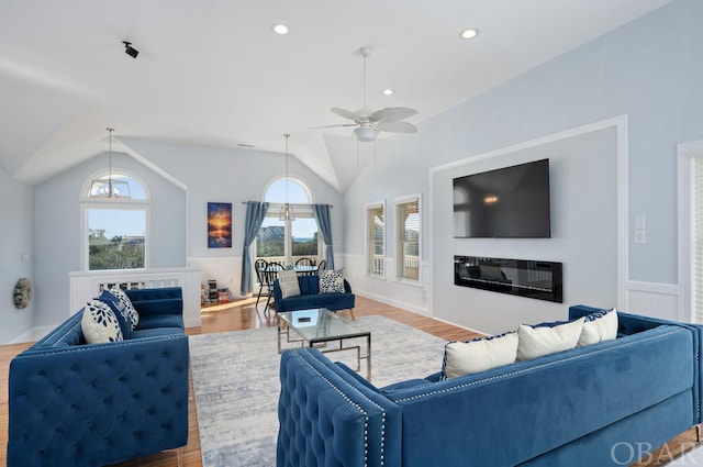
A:
[[[288,351],[277,465],[629,465],[701,423],[701,330],[618,313],[614,341],[387,388],[315,348]]]

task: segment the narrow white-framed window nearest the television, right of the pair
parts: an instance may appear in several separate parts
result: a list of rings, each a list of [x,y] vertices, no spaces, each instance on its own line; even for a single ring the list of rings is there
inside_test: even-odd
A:
[[[395,278],[420,280],[420,197],[395,202]]]

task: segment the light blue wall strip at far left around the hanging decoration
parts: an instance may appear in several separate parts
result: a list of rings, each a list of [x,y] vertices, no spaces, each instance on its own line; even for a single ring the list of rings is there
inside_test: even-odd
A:
[[[14,308],[14,286],[21,277],[34,282],[34,189],[11,179],[0,167],[0,344],[9,343],[34,325],[36,300]],[[22,258],[22,255],[26,255]]]

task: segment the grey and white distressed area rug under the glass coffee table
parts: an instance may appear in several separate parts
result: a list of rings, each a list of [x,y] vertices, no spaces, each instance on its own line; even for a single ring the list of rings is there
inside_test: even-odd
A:
[[[371,331],[377,387],[422,378],[442,368],[446,341],[383,316],[361,316]],[[278,434],[275,327],[190,337],[190,359],[203,467],[271,467]],[[356,366],[356,354],[330,354]],[[366,374],[366,363],[361,363]]]

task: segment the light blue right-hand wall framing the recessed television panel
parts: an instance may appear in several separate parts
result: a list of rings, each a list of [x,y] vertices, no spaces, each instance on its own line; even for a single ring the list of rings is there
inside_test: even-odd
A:
[[[628,279],[677,283],[676,145],[703,138],[701,20],[703,2],[674,1],[386,142],[345,194],[345,252],[364,255],[362,224],[352,221],[362,219],[365,202],[429,194],[432,167],[625,114],[627,223],[641,214],[648,227],[647,244],[629,248]],[[424,259],[446,267],[427,242]]]

